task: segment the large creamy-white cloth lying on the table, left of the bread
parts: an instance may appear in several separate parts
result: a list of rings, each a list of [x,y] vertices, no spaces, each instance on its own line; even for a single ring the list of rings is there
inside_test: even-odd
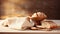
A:
[[[31,22],[28,21],[27,17],[11,17],[3,21],[3,25],[8,25],[9,28],[24,30],[27,27],[34,26]]]

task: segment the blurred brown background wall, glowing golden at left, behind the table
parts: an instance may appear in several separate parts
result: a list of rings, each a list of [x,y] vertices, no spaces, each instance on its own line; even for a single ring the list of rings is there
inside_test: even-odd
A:
[[[60,0],[0,0],[0,19],[44,12],[47,19],[60,19]]]

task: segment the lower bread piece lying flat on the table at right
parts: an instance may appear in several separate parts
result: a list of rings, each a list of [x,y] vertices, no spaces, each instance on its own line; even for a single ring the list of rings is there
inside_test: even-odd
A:
[[[41,26],[48,28],[48,29],[54,29],[57,28],[57,24],[54,23],[53,21],[42,21]]]

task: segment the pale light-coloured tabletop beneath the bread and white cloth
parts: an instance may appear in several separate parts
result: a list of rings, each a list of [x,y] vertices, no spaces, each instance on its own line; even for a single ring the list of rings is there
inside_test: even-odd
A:
[[[54,21],[56,24],[58,24],[58,26],[60,25],[60,20],[52,20]],[[0,20],[0,23],[2,21]],[[21,31],[21,30],[14,30],[14,29],[10,29],[8,27],[3,27],[0,26],[0,33],[1,34],[46,34],[46,33],[54,33],[54,34],[60,34],[60,28],[59,29],[55,29],[52,31],[41,31],[41,30],[25,30],[25,31]]]

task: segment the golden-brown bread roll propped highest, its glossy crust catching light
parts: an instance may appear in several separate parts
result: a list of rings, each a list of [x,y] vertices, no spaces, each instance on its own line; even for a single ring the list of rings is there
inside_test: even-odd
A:
[[[43,20],[45,18],[47,18],[47,16],[44,13],[42,13],[42,12],[34,13],[32,15],[32,17],[31,17],[31,19],[34,20],[34,21],[37,21],[37,20],[41,21],[41,20]]]

